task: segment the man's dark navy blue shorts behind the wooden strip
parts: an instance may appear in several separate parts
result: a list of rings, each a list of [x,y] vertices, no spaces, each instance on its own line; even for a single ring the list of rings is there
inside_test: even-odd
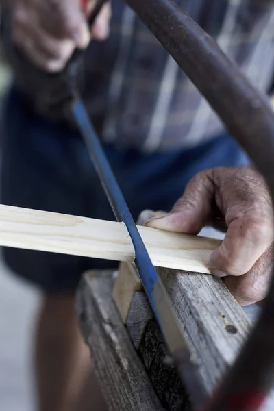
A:
[[[113,219],[79,134],[40,118],[16,90],[5,99],[1,124],[2,203],[97,219]],[[146,155],[105,145],[105,153],[134,218],[146,208],[169,210],[188,180],[214,166],[247,164],[227,134],[190,150]],[[45,292],[75,290],[87,269],[114,262],[55,253],[3,249],[5,262]]]

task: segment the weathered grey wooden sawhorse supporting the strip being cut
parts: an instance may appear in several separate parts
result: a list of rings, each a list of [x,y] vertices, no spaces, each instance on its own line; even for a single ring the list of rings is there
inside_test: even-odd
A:
[[[225,374],[250,323],[219,278],[158,269],[208,393]],[[192,410],[132,266],[90,271],[77,292],[82,332],[110,410]]]

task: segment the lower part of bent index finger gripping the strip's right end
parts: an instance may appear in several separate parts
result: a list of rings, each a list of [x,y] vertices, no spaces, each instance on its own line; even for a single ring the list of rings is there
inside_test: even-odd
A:
[[[212,274],[221,276],[243,275],[273,241],[273,225],[258,212],[247,212],[229,223],[227,234],[220,247],[210,256],[208,266]]]

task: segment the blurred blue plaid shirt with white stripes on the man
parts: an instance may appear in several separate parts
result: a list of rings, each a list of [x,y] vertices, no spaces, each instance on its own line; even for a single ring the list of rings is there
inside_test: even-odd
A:
[[[177,0],[260,90],[273,81],[274,0]],[[86,53],[84,100],[106,142],[144,151],[195,147],[223,127],[138,17],[112,0],[110,38]]]

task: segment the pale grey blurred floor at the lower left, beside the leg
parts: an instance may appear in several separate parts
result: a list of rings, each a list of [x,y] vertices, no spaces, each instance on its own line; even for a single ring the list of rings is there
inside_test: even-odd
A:
[[[19,281],[0,259],[0,410],[34,411],[32,335],[36,290]]]

